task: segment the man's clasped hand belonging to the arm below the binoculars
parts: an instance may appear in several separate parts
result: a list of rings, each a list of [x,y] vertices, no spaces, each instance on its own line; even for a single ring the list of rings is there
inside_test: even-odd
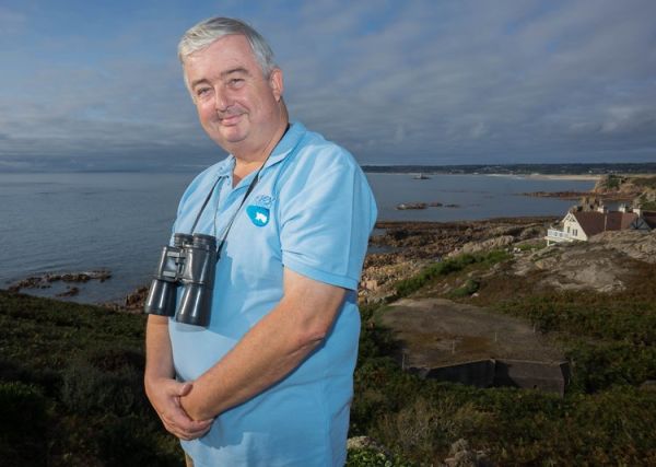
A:
[[[145,393],[164,428],[180,440],[189,441],[203,436],[212,427],[213,419],[195,421],[180,406],[180,397],[189,394],[191,383],[179,383],[171,378],[148,382]]]

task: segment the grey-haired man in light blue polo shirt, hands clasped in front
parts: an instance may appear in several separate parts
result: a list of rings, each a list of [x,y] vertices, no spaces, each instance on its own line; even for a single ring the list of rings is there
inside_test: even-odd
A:
[[[174,232],[200,212],[194,233],[225,243],[207,328],[149,316],[148,397],[196,467],[342,465],[371,189],[347,151],[289,125],[282,71],[248,25],[203,21],[178,55],[230,155],[189,185]]]

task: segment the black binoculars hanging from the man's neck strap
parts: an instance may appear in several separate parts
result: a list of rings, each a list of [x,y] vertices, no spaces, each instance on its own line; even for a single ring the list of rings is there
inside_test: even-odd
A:
[[[183,233],[176,233],[173,238],[173,246],[162,248],[144,312],[175,316],[178,323],[207,327],[212,310],[216,238]],[[180,285],[181,295],[176,306]]]

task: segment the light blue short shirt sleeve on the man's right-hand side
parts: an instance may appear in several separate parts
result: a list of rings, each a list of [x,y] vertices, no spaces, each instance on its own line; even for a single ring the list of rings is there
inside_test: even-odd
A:
[[[376,205],[362,170],[339,147],[297,154],[280,192],[284,267],[356,290]]]

